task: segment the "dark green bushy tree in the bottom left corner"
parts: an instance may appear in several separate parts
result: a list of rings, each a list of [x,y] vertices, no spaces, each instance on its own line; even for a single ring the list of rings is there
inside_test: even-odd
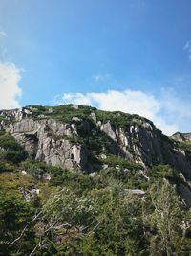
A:
[[[0,194],[0,255],[26,255],[32,250],[34,233],[31,221],[29,203],[14,194]]]

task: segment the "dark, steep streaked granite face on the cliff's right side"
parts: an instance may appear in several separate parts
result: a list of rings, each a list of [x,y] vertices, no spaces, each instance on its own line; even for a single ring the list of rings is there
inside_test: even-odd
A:
[[[116,143],[117,154],[145,167],[169,164],[191,178],[191,159],[150,123],[114,129],[108,122],[101,129]]]

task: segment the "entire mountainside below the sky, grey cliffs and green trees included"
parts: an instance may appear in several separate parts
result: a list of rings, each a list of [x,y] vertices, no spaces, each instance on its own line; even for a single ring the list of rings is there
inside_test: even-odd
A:
[[[0,189],[0,255],[191,251],[191,133],[138,115],[1,110]]]

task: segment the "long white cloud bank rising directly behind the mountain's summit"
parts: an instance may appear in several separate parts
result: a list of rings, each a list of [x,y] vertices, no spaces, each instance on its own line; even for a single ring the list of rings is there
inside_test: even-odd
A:
[[[57,104],[94,105],[102,110],[123,111],[144,116],[154,122],[164,134],[172,135],[179,130],[177,122],[169,123],[162,117],[161,102],[153,95],[136,90],[109,90],[101,93],[67,93],[63,94]]]

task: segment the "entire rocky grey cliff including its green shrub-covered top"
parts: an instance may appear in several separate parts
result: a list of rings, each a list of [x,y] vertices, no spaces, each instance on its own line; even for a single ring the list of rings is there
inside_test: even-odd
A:
[[[34,105],[0,111],[0,129],[11,133],[32,159],[51,165],[93,172],[103,158],[117,155],[144,169],[169,164],[191,178],[190,155],[174,140],[182,135],[169,139],[138,115],[81,105]]]

